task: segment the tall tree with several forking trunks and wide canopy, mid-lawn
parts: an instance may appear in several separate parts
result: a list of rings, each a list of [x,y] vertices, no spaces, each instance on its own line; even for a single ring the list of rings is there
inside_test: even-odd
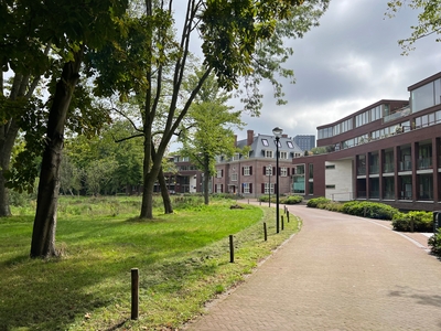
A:
[[[292,76],[292,71],[281,66],[292,54],[292,50],[283,46],[283,40],[302,36],[318,24],[327,2],[189,0],[186,10],[180,2],[181,8],[174,13],[172,1],[147,0],[143,14],[126,18],[126,33],[118,43],[97,53],[93,63],[100,67],[97,86],[104,95],[118,92],[121,96],[135,94],[139,99],[142,96],[141,218],[153,217],[153,188],[168,145],[211,73],[215,73],[219,86],[226,90],[238,88],[244,78],[245,109],[258,115],[261,79],[270,79],[275,96],[281,98],[277,75]],[[173,33],[173,13],[183,19],[178,40]],[[190,49],[193,39],[202,41],[202,74],[190,89],[184,89],[185,78],[194,73]],[[164,86],[169,87],[166,93]]]

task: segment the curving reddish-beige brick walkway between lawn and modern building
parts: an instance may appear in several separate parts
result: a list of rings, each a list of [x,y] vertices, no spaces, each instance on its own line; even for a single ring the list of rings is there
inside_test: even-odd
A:
[[[427,253],[427,237],[289,210],[303,220],[301,232],[186,330],[441,330],[441,261]]]

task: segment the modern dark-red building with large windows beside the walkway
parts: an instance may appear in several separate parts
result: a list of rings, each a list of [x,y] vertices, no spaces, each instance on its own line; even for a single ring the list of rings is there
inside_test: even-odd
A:
[[[441,73],[408,92],[318,127],[327,153],[293,160],[294,193],[441,210]]]

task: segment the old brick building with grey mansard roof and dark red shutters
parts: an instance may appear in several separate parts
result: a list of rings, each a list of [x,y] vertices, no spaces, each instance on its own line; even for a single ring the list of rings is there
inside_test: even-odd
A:
[[[247,131],[247,139],[236,141],[238,148],[248,147],[248,154],[236,153],[232,159],[219,157],[213,192],[233,193],[245,197],[272,195],[277,192],[276,137],[254,135]],[[279,194],[291,193],[292,159],[302,156],[302,150],[288,135],[279,140]]]

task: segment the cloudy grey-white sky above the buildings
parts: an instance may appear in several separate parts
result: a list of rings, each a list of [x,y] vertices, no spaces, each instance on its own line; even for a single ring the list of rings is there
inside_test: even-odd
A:
[[[387,0],[331,0],[320,26],[287,43],[294,54],[286,66],[295,75],[293,85],[282,81],[288,104],[277,106],[270,84],[261,85],[261,115],[243,116],[247,125],[237,130],[238,139],[246,139],[247,130],[271,135],[275,127],[289,137],[316,136],[318,126],[380,99],[408,99],[408,86],[440,72],[441,43],[434,36],[401,55],[398,40],[410,35],[418,12],[401,8],[390,19],[386,11]]]

